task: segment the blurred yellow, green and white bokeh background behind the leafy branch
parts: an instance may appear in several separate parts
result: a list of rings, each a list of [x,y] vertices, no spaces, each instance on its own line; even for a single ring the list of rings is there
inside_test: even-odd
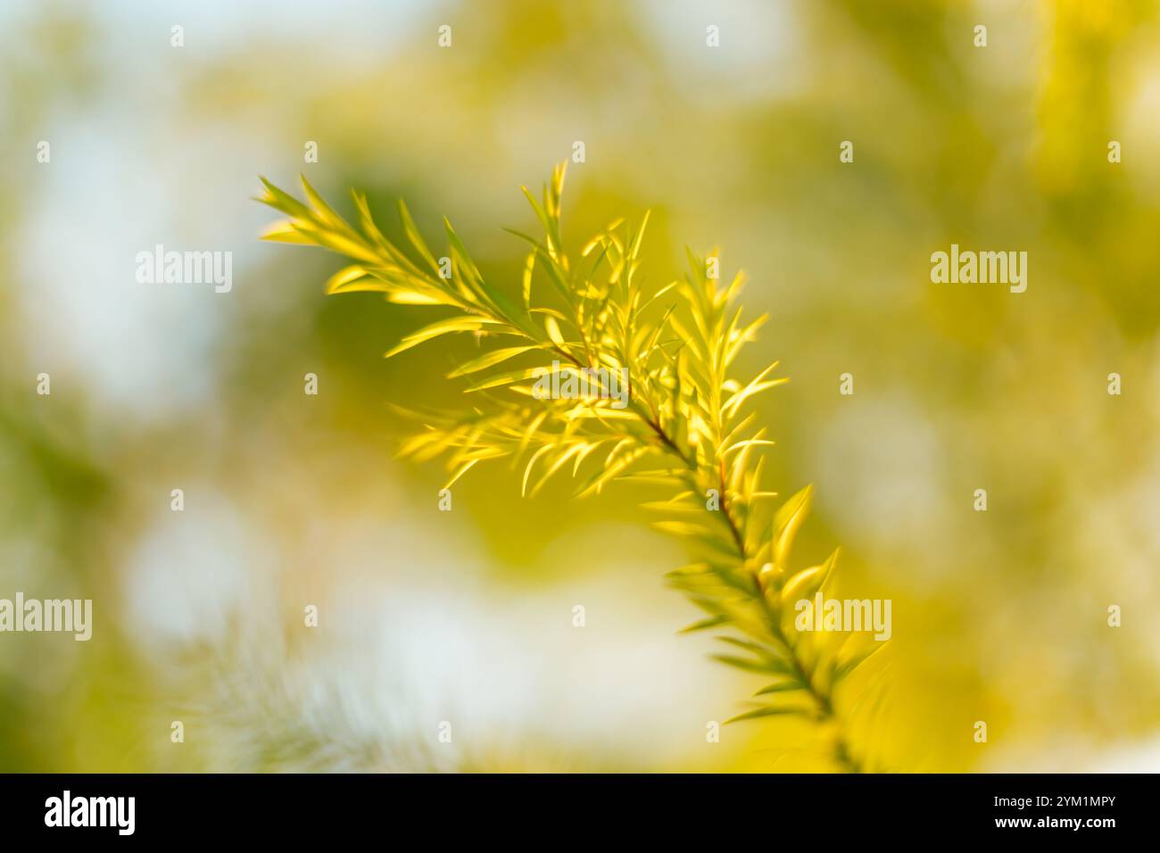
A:
[[[438,512],[389,404],[455,404],[462,352],[382,359],[421,309],[256,240],[258,175],[304,171],[516,282],[499,227],[575,140],[566,239],[651,208],[654,283],[719,244],[770,312],[798,552],[894,602],[890,765],[1160,768],[1155,2],[8,0],[0,71],[0,597],[95,610],[0,635],[0,771],[826,768],[778,723],[706,743],[756,685],[676,635],[632,487],[479,467]],[[137,283],[159,243],[232,292]],[[931,284],[950,243],[1027,251],[1027,292]]]

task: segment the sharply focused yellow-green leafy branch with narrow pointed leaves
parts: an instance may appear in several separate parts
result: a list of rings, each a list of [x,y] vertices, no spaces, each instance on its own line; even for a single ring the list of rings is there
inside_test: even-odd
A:
[[[307,204],[263,180],[260,201],[289,217],[264,239],[324,246],[351,259],[326,283],[327,294],[378,291],[392,303],[452,309],[387,355],[457,332],[481,339],[483,354],[448,374],[466,378],[471,404],[454,414],[418,415],[425,429],[403,448],[420,460],[445,456],[449,486],[477,463],[501,458],[523,467],[528,494],[565,469],[580,478],[579,494],[599,493],[612,480],[665,486],[670,497],[645,506],[666,516],[658,528],[695,543],[698,561],[670,579],[709,614],[684,630],[725,631],[719,639],[732,648],[716,659],[769,678],[754,707],[733,720],[804,717],[817,724],[819,745],[839,766],[867,767],[870,757],[850,743],[835,691],[882,644],[795,630],[793,602],[822,588],[838,555],[822,565],[791,568],[790,550],[812,490],[778,507],[776,493],[761,484],[762,451],[773,442],[745,409],[755,395],[786,381],[773,376],[777,362],[748,381],[731,376],[738,353],[767,317],[742,320],[735,303],[744,275],[719,287],[709,276],[716,254],[689,252],[682,281],[647,292],[639,275],[647,215],[637,227],[616,221],[579,255],[566,253],[564,173],[563,164],[556,167],[541,202],[524,189],[543,237],[513,232],[530,247],[522,304],[488,282],[450,223],[450,277],[442,277],[440,261],[401,202],[407,251],[383,236],[357,191],[356,230],[305,179]],[[541,294],[544,283],[546,294]],[[574,369],[626,368],[626,407],[614,409],[599,396],[534,396],[530,381],[551,370],[553,361]],[[525,363],[510,369],[512,362]],[[875,692],[873,700],[879,695]],[[862,708],[870,704],[861,701]]]

